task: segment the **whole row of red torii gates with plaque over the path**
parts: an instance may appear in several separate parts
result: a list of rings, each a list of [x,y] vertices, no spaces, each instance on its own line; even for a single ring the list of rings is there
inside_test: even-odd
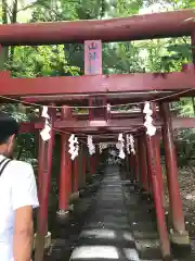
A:
[[[2,102],[21,101],[26,104],[48,107],[50,115],[50,139],[39,140],[38,189],[40,209],[38,213],[36,261],[42,260],[43,241],[48,233],[48,201],[51,182],[52,151],[55,134],[61,134],[60,214],[67,211],[70,192],[72,160],[68,153],[69,134],[82,141],[82,175],[86,175],[86,137],[92,135],[93,142],[117,142],[119,133],[133,135],[136,153],[130,154],[133,178],[140,188],[153,195],[162,257],[170,256],[170,239],[176,244],[190,244],[182,212],[182,200],[178,183],[177,153],[173,128],[195,127],[195,120],[171,116],[169,102],[182,96],[194,96],[195,66],[184,64],[181,72],[144,73],[123,75],[102,74],[102,42],[140,40],[165,37],[190,36],[195,45],[194,11],[136,15],[103,21],[76,21],[35,24],[0,25],[0,44],[5,46],[55,45],[84,42],[83,76],[12,78],[10,72],[0,74]],[[195,62],[195,52],[192,48]],[[146,135],[143,104],[151,102],[153,125],[157,132]],[[112,107],[138,103],[140,110],[115,112]],[[110,104],[110,105],[108,105]],[[61,113],[57,108],[61,107]],[[75,114],[73,108],[86,107],[89,113]],[[21,133],[41,132],[44,120],[23,123]],[[69,134],[68,134],[69,133]],[[105,135],[106,134],[106,135]],[[166,173],[169,187],[171,232],[167,229],[159,139],[165,147]],[[81,152],[79,152],[81,153]],[[99,164],[99,153],[90,157],[92,166]],[[74,192],[78,187],[78,157],[74,160]],[[93,169],[94,170],[94,169]],[[94,171],[92,171],[94,172]]]

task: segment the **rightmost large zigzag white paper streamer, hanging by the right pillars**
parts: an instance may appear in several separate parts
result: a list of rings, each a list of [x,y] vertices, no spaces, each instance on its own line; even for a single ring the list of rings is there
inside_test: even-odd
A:
[[[146,134],[148,136],[154,136],[156,134],[156,127],[153,125],[153,111],[151,110],[150,102],[146,101],[144,105],[143,113],[145,113],[144,126],[146,127]]]

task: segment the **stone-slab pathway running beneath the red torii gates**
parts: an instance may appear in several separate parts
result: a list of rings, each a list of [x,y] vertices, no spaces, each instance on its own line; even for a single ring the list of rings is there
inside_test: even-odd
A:
[[[147,210],[133,185],[108,166],[70,260],[159,260],[156,225]]]

